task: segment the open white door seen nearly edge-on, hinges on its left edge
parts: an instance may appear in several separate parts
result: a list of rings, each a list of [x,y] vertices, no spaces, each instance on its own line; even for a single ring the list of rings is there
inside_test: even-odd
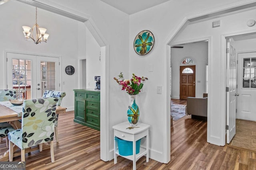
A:
[[[227,42],[227,69],[226,69],[226,109],[227,109],[227,143],[230,143],[236,134],[236,93],[237,93],[237,55],[236,49],[232,46],[232,41],[228,38]]]

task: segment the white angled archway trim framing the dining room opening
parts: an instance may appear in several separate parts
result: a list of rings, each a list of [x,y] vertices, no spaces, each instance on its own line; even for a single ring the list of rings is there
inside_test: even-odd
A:
[[[74,20],[83,22],[90,33],[92,33],[94,39],[100,45],[101,52],[101,91],[100,91],[100,158],[104,161],[108,161],[109,158],[109,122],[108,122],[108,43],[102,33],[100,33],[96,24],[89,16],[81,14],[79,12],[70,10],[63,6],[58,6],[57,4],[51,2],[36,2],[34,0],[18,0],[25,4],[36,6],[38,8],[53,12]],[[79,64],[78,64],[79,65]]]

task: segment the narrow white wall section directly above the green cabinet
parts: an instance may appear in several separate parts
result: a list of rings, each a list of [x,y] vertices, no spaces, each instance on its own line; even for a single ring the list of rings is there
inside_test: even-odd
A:
[[[100,46],[86,28],[86,88],[95,88],[94,76],[101,76]]]

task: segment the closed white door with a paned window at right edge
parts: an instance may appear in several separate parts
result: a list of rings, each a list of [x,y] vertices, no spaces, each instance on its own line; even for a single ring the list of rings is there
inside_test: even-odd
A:
[[[256,121],[256,52],[238,53],[237,118]]]

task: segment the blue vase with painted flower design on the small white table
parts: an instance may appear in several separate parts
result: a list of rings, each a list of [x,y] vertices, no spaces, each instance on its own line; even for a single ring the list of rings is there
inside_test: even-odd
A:
[[[140,117],[140,110],[135,102],[136,95],[130,95],[130,104],[127,110],[128,121],[130,126],[136,126]]]

